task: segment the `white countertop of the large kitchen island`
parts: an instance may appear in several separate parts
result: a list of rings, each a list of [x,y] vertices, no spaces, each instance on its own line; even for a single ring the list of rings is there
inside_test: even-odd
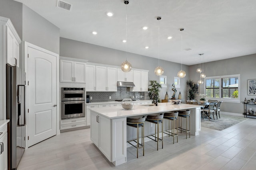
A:
[[[201,107],[199,105],[192,104],[179,104],[173,105],[171,103],[159,103],[158,106],[143,106],[143,105],[134,105],[131,110],[125,110],[122,106],[116,107],[99,107],[99,108],[90,108],[90,110],[103,115],[109,119],[115,119],[120,117],[130,117],[137,115],[146,115],[151,113],[162,113],[167,111],[183,110]]]

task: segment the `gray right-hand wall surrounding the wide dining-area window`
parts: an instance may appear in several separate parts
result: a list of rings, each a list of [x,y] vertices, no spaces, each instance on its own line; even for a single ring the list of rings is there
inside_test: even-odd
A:
[[[195,82],[199,79],[199,73],[196,73],[196,68],[198,68],[198,64],[190,66],[189,68],[190,79]],[[255,72],[256,54],[204,63],[204,73],[207,77],[240,74],[240,101],[244,101],[244,98],[256,98],[256,95],[248,96],[248,80],[256,79]],[[201,94],[204,93],[204,85],[205,84],[200,85]],[[251,107],[255,110],[254,106]],[[243,109],[244,105],[241,103],[223,102],[221,106],[222,111],[232,113],[242,113]]]

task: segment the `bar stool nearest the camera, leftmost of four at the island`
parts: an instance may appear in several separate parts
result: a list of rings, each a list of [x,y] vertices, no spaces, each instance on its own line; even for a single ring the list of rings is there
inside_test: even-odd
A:
[[[140,118],[127,118],[126,124],[131,127],[137,128],[137,139],[128,141],[133,147],[137,149],[137,158],[138,158],[138,149],[143,148],[143,156],[144,156],[144,122],[146,120],[145,116]],[[139,127],[141,127],[141,144],[139,143]],[[134,141],[137,145],[133,145],[131,142]]]

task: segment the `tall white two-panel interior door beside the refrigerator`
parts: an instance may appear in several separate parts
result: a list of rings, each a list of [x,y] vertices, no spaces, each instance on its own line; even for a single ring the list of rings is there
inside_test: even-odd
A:
[[[56,135],[56,56],[28,47],[28,147]]]

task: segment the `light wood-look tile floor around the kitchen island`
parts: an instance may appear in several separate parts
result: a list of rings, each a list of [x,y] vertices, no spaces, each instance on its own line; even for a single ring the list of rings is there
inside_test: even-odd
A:
[[[244,118],[246,119],[246,118]],[[223,131],[201,127],[200,135],[178,143],[164,137],[164,149],[145,143],[145,156],[127,148],[127,162],[110,163],[90,141],[90,129],[60,133],[25,150],[18,170],[254,170],[256,119],[246,119]],[[160,145],[159,145],[160,146]]]

